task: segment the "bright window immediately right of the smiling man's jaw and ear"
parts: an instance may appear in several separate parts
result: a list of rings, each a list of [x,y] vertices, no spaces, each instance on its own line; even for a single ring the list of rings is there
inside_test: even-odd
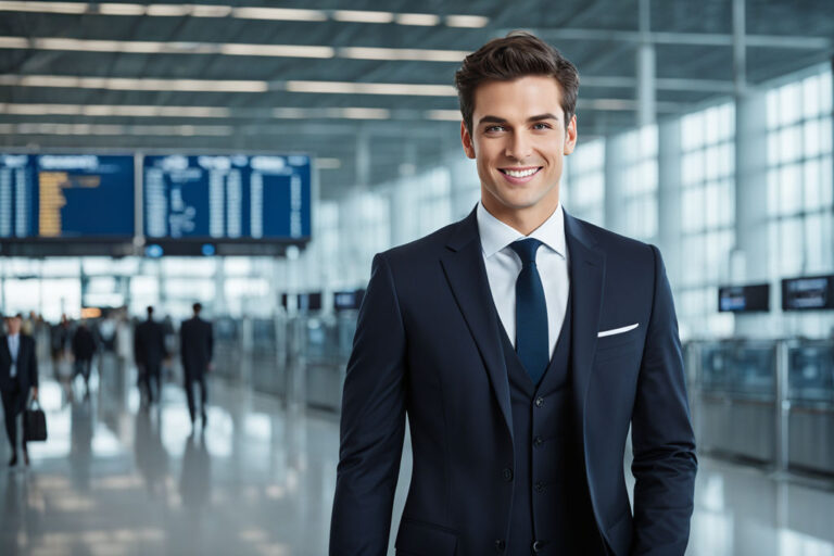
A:
[[[605,139],[581,143],[565,159],[560,188],[566,211],[605,226]]]

